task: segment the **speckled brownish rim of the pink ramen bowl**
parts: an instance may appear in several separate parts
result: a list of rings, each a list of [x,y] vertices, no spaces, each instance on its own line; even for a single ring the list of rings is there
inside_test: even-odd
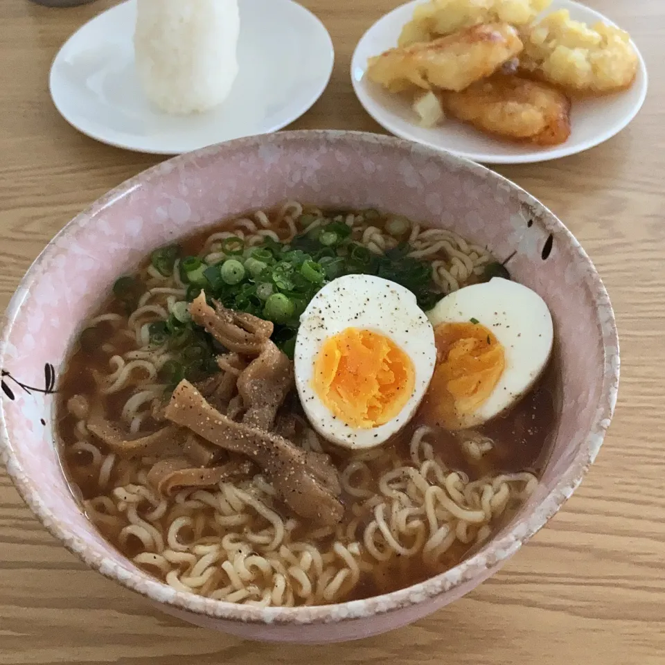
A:
[[[299,130],[248,136],[172,157],[140,172],[138,175],[127,179],[116,188],[110,190],[106,195],[85,209],[85,211],[82,211],[67,222],[51,241],[48,242],[21,279],[3,315],[0,330],[0,366],[3,365],[5,360],[8,337],[17,314],[24,303],[28,288],[35,281],[37,267],[55,249],[57,241],[65,238],[80,225],[94,219],[96,215],[108,206],[111,206],[117,199],[125,197],[125,195],[131,193],[137,187],[150,183],[155,179],[159,180],[165,164],[168,164],[169,168],[182,170],[186,169],[193,161],[202,157],[220,156],[223,159],[224,152],[258,148],[265,141],[272,141],[272,143],[281,147],[288,147],[293,144],[297,145],[303,141],[324,141],[329,145],[339,145],[340,143],[348,145],[351,143],[360,147],[365,145],[380,145],[389,150],[408,150],[412,154],[419,154],[423,157],[443,161],[473,175],[493,179],[504,184],[504,186],[508,186],[514,195],[520,197],[522,202],[526,202],[526,204],[531,206],[548,231],[565,238],[569,248],[576,252],[578,260],[584,263],[586,267],[582,283],[592,294],[594,301],[594,314],[598,321],[598,328],[603,341],[604,371],[601,387],[598,391],[598,398],[594,405],[595,414],[592,426],[589,428],[587,434],[585,434],[583,441],[580,442],[576,455],[551,491],[538,504],[535,504],[531,508],[531,513],[526,520],[504,529],[500,537],[490,539],[469,558],[461,561],[452,569],[428,578],[424,582],[381,596],[371,596],[363,600],[346,601],[332,605],[313,605],[298,608],[257,608],[237,603],[228,603],[227,601],[218,601],[212,598],[204,598],[190,592],[178,591],[166,585],[166,583],[140,571],[129,560],[127,560],[127,563],[131,567],[121,567],[115,563],[110,564],[105,556],[96,551],[94,545],[89,544],[89,542],[82,538],[73,537],[60,524],[57,515],[44,505],[40,498],[42,493],[39,487],[33,485],[30,479],[26,477],[21,465],[17,461],[10,433],[6,426],[2,401],[0,401],[0,456],[21,498],[24,499],[24,502],[35,513],[37,519],[42,522],[48,532],[57,538],[57,540],[60,540],[64,544],[64,547],[105,577],[145,596],[145,598],[153,602],[168,605],[174,608],[174,610],[184,610],[185,612],[213,619],[240,621],[245,624],[254,624],[257,626],[276,626],[344,623],[346,621],[371,617],[375,614],[387,614],[419,605],[424,601],[433,600],[436,596],[450,592],[450,590],[460,587],[465,583],[472,583],[481,571],[498,567],[520,549],[522,544],[530,540],[553,517],[580,484],[589,466],[596,458],[596,454],[598,454],[598,450],[603,443],[605,432],[612,420],[614,407],[617,402],[619,387],[619,338],[608,292],[605,290],[605,286],[592,260],[587,256],[578,240],[570,233],[563,222],[538,202],[537,199],[526,193],[524,189],[506,177],[491,171],[485,166],[481,166],[450,152],[434,150],[425,145],[412,143],[411,141],[398,139],[393,136],[345,130]]]

